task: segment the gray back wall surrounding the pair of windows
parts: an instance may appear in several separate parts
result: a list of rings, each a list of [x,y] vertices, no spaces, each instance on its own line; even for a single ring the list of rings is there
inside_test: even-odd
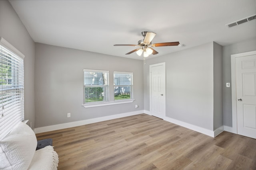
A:
[[[68,123],[144,109],[143,61],[36,43],[36,127]],[[113,72],[133,72],[133,103],[84,108],[83,69],[109,70],[110,100]],[[135,108],[138,105],[138,108]],[[67,118],[67,113],[71,117]]]

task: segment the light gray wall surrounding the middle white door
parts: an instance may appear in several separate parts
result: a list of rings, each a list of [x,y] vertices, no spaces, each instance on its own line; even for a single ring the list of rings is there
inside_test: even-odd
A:
[[[149,65],[166,62],[166,116],[213,130],[213,42],[146,60],[144,109],[150,109]]]

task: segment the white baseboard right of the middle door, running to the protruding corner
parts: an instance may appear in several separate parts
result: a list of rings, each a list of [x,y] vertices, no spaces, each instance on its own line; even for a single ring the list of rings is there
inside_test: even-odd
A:
[[[182,127],[186,127],[186,128],[191,129],[193,131],[203,133],[203,134],[208,135],[210,137],[214,137],[214,131],[211,131],[209,129],[205,129],[203,127],[199,127],[199,126],[196,126],[196,125],[192,125],[192,124],[186,123],[184,121],[179,121],[177,119],[172,119],[170,117],[165,117],[164,120],[168,121],[168,122],[171,122],[171,123],[174,123],[176,125],[180,125]]]

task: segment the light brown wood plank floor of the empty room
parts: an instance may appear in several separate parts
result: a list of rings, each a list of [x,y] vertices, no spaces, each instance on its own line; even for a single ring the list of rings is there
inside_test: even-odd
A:
[[[53,139],[59,170],[256,170],[256,139],[212,138],[146,114],[36,136]]]

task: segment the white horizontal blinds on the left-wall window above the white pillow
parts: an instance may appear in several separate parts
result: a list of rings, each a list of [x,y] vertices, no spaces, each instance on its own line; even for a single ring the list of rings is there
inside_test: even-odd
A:
[[[24,119],[23,58],[0,37],[0,140]]]

